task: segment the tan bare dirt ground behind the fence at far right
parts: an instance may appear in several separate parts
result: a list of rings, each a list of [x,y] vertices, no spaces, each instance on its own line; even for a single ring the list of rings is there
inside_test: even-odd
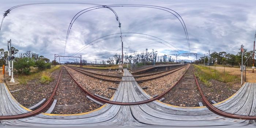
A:
[[[214,66],[210,66],[210,67],[212,69],[215,68]],[[216,66],[216,70],[224,72],[224,67]],[[252,73],[252,68],[246,68],[246,82],[256,82],[256,69],[254,69],[254,71],[255,72]],[[225,67],[225,72],[229,72],[230,75],[241,76],[240,68]],[[243,72],[243,76],[245,77],[245,71]]]

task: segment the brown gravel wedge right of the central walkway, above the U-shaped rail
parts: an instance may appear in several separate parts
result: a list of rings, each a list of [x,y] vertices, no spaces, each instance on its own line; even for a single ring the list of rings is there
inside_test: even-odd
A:
[[[188,67],[182,68],[169,75],[158,79],[149,80],[147,82],[139,83],[140,87],[148,87],[145,91],[150,95],[162,94],[164,91],[174,85],[174,83],[181,77]]]

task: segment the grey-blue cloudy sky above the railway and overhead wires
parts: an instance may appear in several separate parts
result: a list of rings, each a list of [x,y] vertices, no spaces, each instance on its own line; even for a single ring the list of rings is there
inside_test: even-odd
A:
[[[15,5],[45,2],[70,1],[1,0],[0,11],[6,11]],[[172,9],[184,20],[190,41],[190,52],[198,53],[197,58],[208,53],[208,50],[236,54],[241,44],[244,44],[248,50],[253,50],[256,30],[255,0],[224,2],[223,0],[74,0],[72,2],[101,5],[146,4]],[[53,60],[54,54],[64,54],[66,34],[72,18],[79,11],[95,6],[39,4],[14,8],[4,19],[0,31],[0,48],[7,49],[7,41],[12,39],[12,46],[17,48],[19,53],[31,50]],[[146,48],[149,51],[157,50],[159,55],[176,54],[177,49],[179,53],[189,52],[182,24],[171,13],[145,7],[112,7],[112,9],[120,20],[122,35],[126,35],[123,37],[124,53],[133,54],[133,51],[139,53]],[[72,56],[76,53],[75,55],[82,55],[82,58],[89,62],[94,59],[106,60],[114,53],[121,53],[120,34],[116,33],[120,33],[120,29],[111,10],[98,8],[88,11],[80,15],[71,27],[65,55]],[[94,41],[95,39],[98,40]],[[90,42],[95,44],[81,49]],[[195,59],[194,56],[189,58],[179,56],[179,58]],[[67,60],[72,59],[61,58],[61,61]]]

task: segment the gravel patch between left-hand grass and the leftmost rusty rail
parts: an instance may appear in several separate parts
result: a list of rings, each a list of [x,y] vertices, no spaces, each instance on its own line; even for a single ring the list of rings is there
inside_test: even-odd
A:
[[[42,99],[46,98],[47,100],[50,97],[54,87],[56,86],[59,75],[60,69],[56,69],[51,74],[53,80],[49,84],[41,84],[38,82],[39,79],[34,79],[27,82],[26,85],[18,84],[8,86],[8,89],[10,91],[21,89],[13,92],[12,95],[21,105],[29,108],[30,106],[40,102]]]

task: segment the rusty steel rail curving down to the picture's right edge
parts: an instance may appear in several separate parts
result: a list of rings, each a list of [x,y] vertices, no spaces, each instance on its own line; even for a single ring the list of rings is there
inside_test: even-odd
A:
[[[192,67],[193,68],[193,67]],[[196,85],[198,87],[198,90],[202,96],[202,100],[204,102],[204,104],[206,105],[206,107],[213,113],[219,115],[219,116],[223,116],[223,117],[227,117],[227,118],[234,118],[234,119],[241,119],[241,120],[256,120],[256,116],[243,116],[243,115],[238,115],[238,114],[231,114],[231,113],[227,113],[227,112],[224,112],[218,108],[216,108],[215,106],[213,106],[207,99],[206,97],[204,96],[203,94],[203,91],[202,89],[200,88],[199,86],[199,83],[196,79],[196,75],[195,75],[195,71],[194,71],[194,68],[193,68],[193,73],[194,73],[194,76],[195,76],[195,81],[196,81]]]

